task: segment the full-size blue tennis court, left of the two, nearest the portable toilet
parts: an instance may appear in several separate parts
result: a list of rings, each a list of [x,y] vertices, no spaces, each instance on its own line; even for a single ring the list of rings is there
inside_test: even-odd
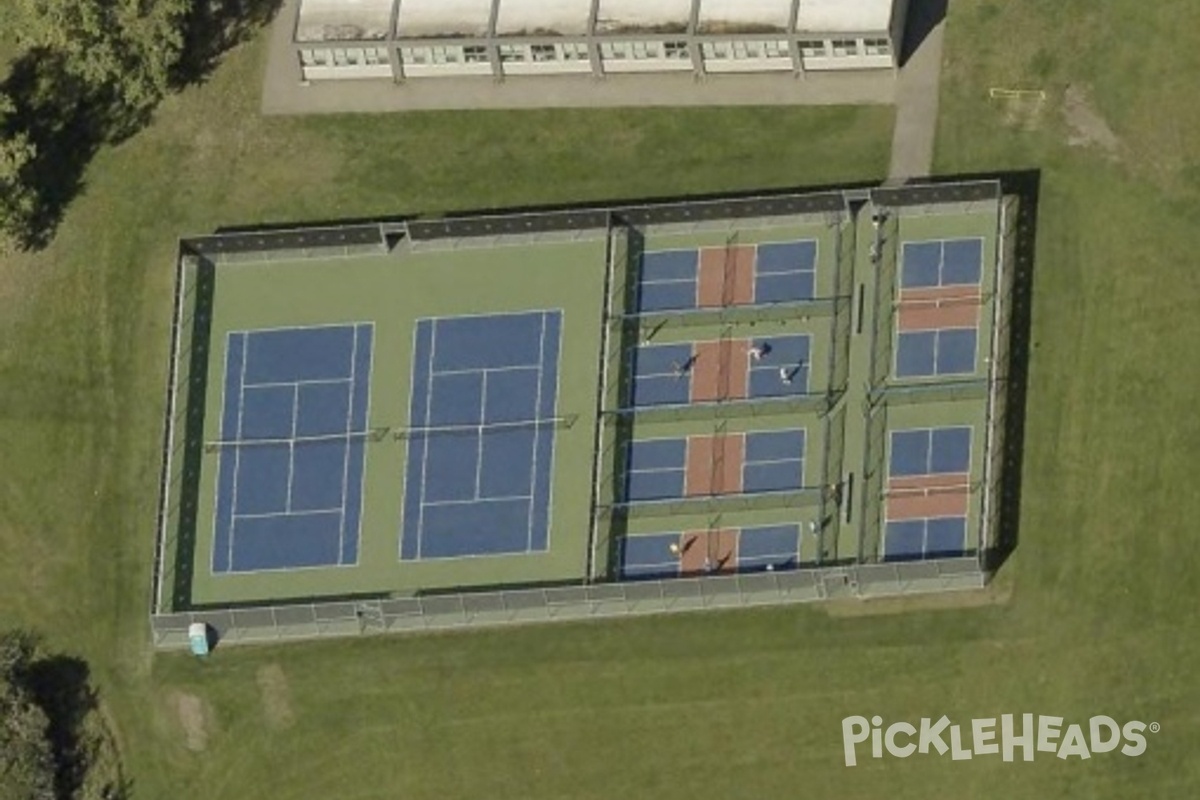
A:
[[[372,331],[229,333],[214,572],[356,563]]]

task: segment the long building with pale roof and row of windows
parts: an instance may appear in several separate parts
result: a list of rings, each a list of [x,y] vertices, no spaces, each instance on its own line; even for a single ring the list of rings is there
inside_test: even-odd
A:
[[[300,0],[306,82],[894,70],[908,0]]]

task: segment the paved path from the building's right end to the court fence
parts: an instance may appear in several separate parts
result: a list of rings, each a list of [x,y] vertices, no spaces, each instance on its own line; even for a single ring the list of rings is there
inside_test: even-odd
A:
[[[929,13],[930,5],[913,2],[912,13]],[[940,13],[937,11],[932,13]],[[908,29],[922,30],[922,20],[910,20]],[[937,132],[937,90],[942,72],[942,35],[946,20],[932,28],[908,56],[896,82],[896,124],[892,134],[889,184],[928,176],[934,168],[934,137]]]

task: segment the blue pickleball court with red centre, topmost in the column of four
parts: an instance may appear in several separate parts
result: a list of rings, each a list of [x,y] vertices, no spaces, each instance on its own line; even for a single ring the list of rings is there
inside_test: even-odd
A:
[[[811,300],[817,242],[761,242],[648,251],[637,275],[637,312]]]

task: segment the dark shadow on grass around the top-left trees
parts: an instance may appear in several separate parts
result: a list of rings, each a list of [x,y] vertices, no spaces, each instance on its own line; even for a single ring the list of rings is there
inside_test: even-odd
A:
[[[281,0],[200,0],[184,20],[184,50],[172,70],[170,89],[203,83],[223,53],[250,40],[275,16]],[[25,134],[36,157],[22,170],[35,194],[17,245],[46,247],[62,215],[84,188],[84,173],[97,150],[142,128],[154,107],[132,108],[112,86],[91,88],[71,74],[58,52],[34,48],[13,61],[0,83],[14,112],[2,119],[0,137]]]

